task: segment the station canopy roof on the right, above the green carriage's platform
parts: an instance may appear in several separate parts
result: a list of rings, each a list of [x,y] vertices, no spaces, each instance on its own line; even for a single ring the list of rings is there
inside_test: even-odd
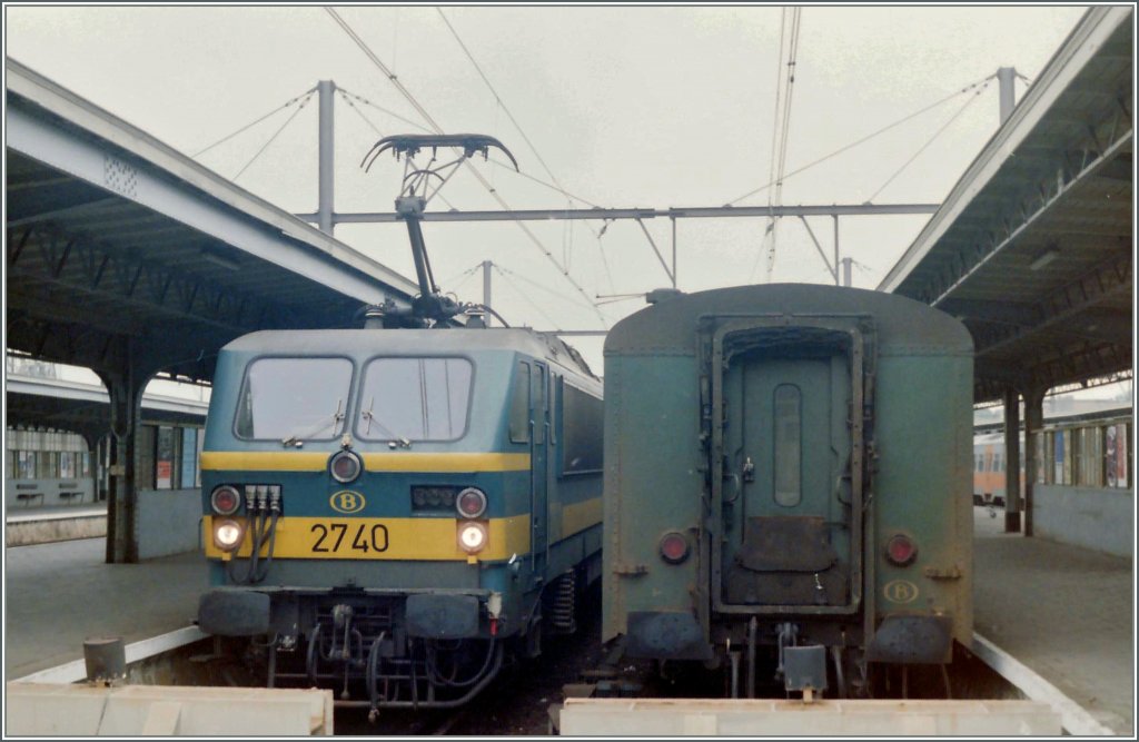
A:
[[[976,401],[1128,377],[1133,7],[1095,7],[878,287],[964,320]]]

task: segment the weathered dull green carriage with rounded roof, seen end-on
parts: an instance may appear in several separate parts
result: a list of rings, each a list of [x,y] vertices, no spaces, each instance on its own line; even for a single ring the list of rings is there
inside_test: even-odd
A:
[[[770,658],[789,690],[972,642],[973,344],[911,300],[812,285],[658,301],[605,343],[604,637]],[[727,660],[727,661],[724,661]]]

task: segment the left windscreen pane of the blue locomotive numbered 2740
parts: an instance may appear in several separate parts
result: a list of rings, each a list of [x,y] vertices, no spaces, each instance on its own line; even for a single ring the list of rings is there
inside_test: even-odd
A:
[[[351,381],[352,361],[346,358],[259,358],[249,364],[237,400],[237,437],[336,438]]]

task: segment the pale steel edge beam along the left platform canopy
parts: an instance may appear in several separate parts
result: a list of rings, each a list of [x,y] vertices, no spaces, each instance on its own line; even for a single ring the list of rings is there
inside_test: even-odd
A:
[[[7,72],[10,150],[357,301],[405,303],[417,292],[395,271],[23,65],[8,59]]]

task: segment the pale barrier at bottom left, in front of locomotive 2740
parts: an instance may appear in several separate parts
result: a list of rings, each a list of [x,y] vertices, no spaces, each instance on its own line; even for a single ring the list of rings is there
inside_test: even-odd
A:
[[[333,692],[316,688],[8,683],[6,736],[333,734]]]

